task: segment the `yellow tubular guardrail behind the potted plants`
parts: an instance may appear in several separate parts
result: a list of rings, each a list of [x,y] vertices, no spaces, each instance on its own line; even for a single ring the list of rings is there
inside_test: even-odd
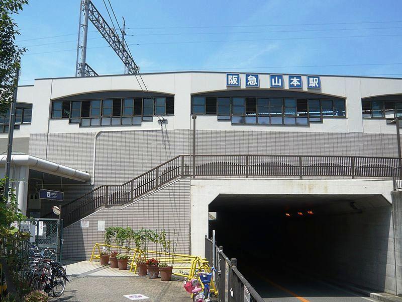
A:
[[[92,249],[91,258],[89,262],[92,262],[93,259],[100,259],[100,252],[102,248],[114,248],[114,249],[122,249],[123,247],[114,246],[114,245],[106,245],[102,243],[95,243]],[[157,251],[147,251],[147,250],[137,250],[133,248],[124,248],[125,251],[129,251],[129,260],[130,260],[130,273],[137,271],[137,263],[136,260],[140,257],[146,258],[146,255],[160,262],[167,262],[173,264],[173,269],[179,269],[178,272],[172,272],[173,275],[184,277],[187,279],[197,278],[198,271],[211,272],[211,267],[208,264],[206,258],[201,258],[198,256],[192,255],[184,255],[184,254],[175,254],[175,253],[165,253],[165,252],[157,252]],[[97,251],[97,253],[96,253]],[[174,265],[181,264],[181,265]],[[184,264],[184,265],[183,265]],[[188,264],[188,265],[185,265]],[[188,274],[186,274],[183,270],[188,270]],[[202,284],[202,282],[200,282]],[[202,284],[204,287],[204,284]],[[211,292],[214,294],[218,294],[218,290],[215,287],[215,281],[211,282]]]

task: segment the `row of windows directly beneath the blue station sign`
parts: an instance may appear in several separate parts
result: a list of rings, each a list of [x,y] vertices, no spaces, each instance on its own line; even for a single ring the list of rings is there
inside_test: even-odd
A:
[[[192,113],[218,115],[233,124],[307,125],[327,116],[345,117],[345,101],[194,96]]]

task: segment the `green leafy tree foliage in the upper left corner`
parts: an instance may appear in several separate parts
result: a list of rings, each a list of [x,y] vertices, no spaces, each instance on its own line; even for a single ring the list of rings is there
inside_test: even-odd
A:
[[[26,51],[16,45],[18,25],[12,18],[23,9],[28,0],[0,0],[0,114],[10,108],[15,88],[15,75],[21,55]]]

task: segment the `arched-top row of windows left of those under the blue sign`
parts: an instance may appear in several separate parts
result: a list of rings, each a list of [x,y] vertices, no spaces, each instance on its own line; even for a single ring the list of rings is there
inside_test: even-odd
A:
[[[54,101],[52,118],[69,118],[81,126],[141,125],[154,115],[174,114],[174,98]]]

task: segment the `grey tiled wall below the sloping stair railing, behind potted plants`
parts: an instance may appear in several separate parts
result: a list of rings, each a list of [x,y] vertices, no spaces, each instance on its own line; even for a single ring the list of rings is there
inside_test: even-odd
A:
[[[108,226],[130,226],[165,230],[178,234],[177,253],[188,254],[190,250],[190,181],[178,180],[124,209],[102,209],[88,216],[89,228],[71,224],[63,230],[63,258],[89,258],[93,245],[104,242],[105,232],[97,231],[97,221],[105,220]],[[175,239],[177,241],[177,239]]]

